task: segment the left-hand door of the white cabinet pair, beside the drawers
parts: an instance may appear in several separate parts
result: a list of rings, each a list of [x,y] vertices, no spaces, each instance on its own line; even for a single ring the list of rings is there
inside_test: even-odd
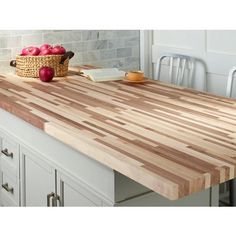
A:
[[[47,206],[47,197],[55,191],[55,169],[26,148],[21,151],[21,168],[22,205]]]

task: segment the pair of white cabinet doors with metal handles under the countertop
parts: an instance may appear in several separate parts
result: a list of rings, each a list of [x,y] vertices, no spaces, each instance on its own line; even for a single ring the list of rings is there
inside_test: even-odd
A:
[[[44,159],[43,159],[44,158]],[[58,171],[45,157],[21,148],[23,206],[101,206],[103,201],[79,180]]]

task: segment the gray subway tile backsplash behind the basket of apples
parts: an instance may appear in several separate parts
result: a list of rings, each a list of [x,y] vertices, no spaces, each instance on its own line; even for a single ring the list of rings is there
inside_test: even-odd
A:
[[[0,72],[24,46],[61,44],[75,53],[70,65],[139,69],[138,30],[0,30]]]

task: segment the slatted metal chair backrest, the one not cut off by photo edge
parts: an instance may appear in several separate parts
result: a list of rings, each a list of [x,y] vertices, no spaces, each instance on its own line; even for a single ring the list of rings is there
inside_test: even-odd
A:
[[[185,78],[187,80],[187,86],[192,87],[195,58],[181,54],[172,54],[172,53],[162,54],[157,62],[157,68],[155,74],[156,80],[160,80],[162,62],[165,58],[169,59],[169,78],[171,83],[176,85],[183,85]],[[175,68],[175,73],[174,73],[174,68]]]

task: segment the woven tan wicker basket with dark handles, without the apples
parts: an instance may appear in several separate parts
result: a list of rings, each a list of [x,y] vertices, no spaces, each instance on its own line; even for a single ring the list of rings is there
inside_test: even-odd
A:
[[[73,52],[64,55],[17,56],[10,65],[16,67],[16,74],[22,77],[39,77],[39,69],[43,66],[53,68],[54,76],[61,77],[67,75],[69,59],[73,56]]]

